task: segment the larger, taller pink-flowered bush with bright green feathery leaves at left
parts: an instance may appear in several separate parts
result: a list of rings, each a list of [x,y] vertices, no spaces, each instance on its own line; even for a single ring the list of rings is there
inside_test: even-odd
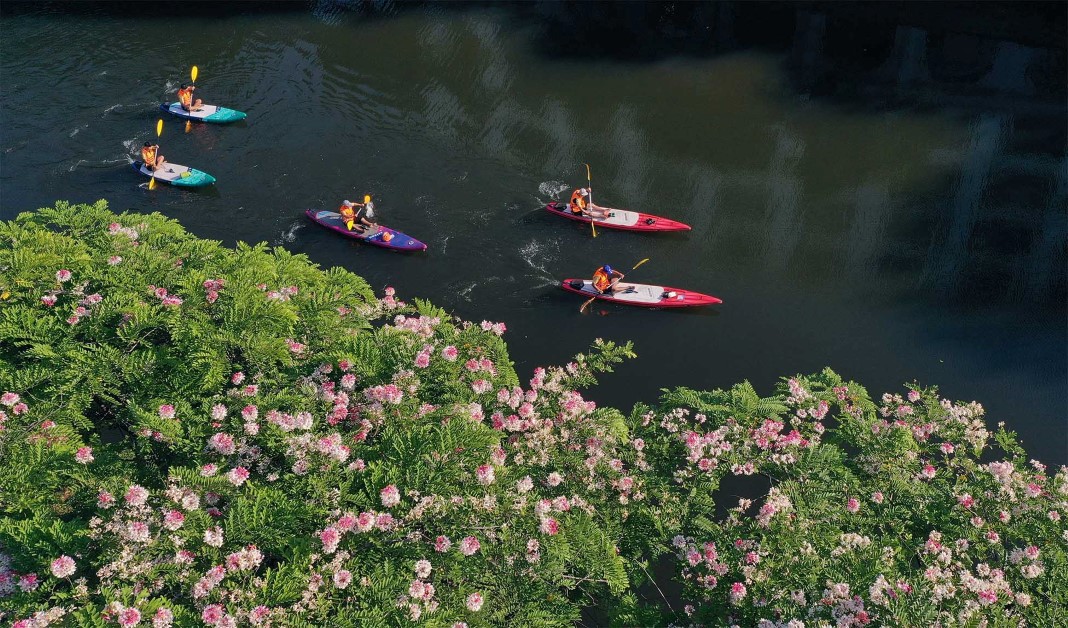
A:
[[[628,586],[624,418],[576,391],[628,347],[520,386],[501,324],[103,203],[0,242],[0,619],[569,624]]]

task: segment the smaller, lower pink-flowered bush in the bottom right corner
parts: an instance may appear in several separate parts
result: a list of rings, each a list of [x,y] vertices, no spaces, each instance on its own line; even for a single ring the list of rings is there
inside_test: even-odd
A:
[[[1054,626],[1068,616],[1068,470],[1027,461],[1014,435],[988,431],[978,404],[918,386],[875,404],[824,371],[763,399],[748,384],[676,390],[635,418],[649,462],[678,488],[770,480],[763,499],[732,501],[725,516],[707,500],[680,508],[681,624]]]

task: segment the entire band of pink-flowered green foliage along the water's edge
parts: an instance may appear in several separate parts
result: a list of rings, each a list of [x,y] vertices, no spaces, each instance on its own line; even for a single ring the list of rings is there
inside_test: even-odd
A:
[[[1068,472],[976,403],[824,371],[623,412],[580,391],[629,345],[520,375],[504,334],[104,202],[0,223],[0,621],[1068,614]]]

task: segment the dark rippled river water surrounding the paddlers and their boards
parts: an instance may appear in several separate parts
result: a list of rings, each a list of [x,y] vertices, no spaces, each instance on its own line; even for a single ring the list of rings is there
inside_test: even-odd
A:
[[[633,340],[592,392],[622,408],[824,365],[875,394],[915,378],[1068,462],[1059,4],[152,6],[4,3],[4,218],[103,198],[285,246],[504,320],[521,374]],[[249,119],[164,117],[162,154],[219,183],[150,192],[128,163],[193,64]],[[584,161],[598,203],[694,231],[594,239],[540,211]],[[302,217],[364,192],[429,250]],[[554,285],[643,257],[628,279],[724,303],[583,316]]]

